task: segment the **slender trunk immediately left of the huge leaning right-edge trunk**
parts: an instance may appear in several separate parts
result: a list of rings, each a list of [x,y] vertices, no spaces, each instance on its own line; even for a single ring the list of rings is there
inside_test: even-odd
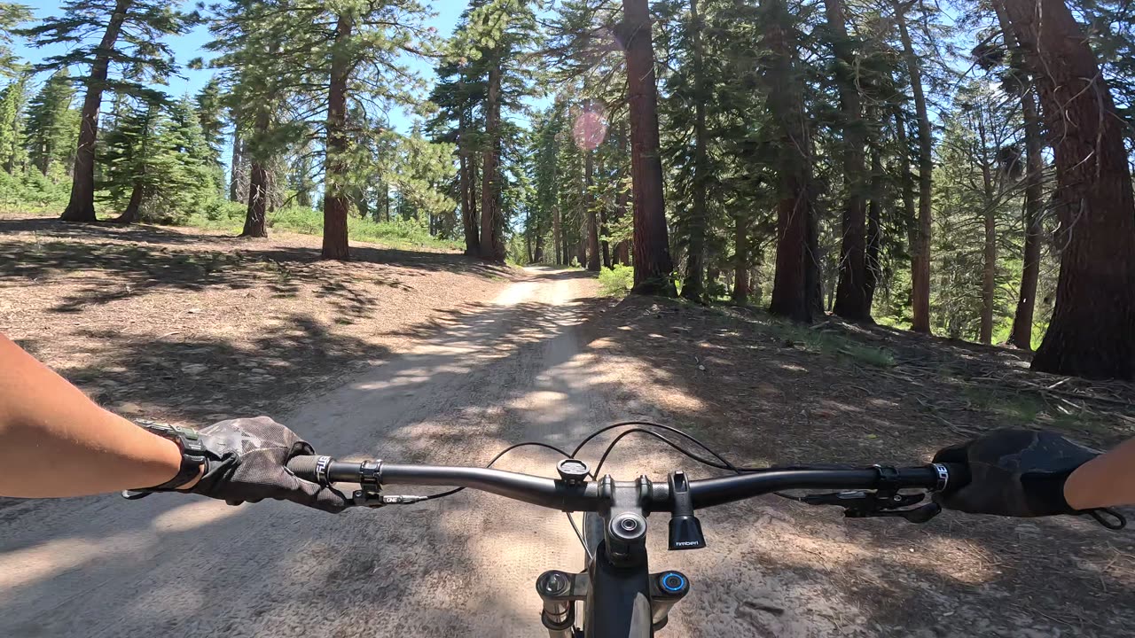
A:
[[[1006,49],[1015,70],[1024,61],[1024,51],[1009,24],[1004,7],[994,2],[998,24],[1004,37]],[[1041,278],[1041,207],[1044,196],[1044,141],[1041,137],[1041,114],[1036,109],[1035,83],[1032,78],[1022,82],[1020,111],[1025,120],[1025,254],[1020,269],[1020,291],[1017,311],[1012,317],[1009,344],[1023,350],[1033,350],[1033,314],[1036,309],[1036,286]]]

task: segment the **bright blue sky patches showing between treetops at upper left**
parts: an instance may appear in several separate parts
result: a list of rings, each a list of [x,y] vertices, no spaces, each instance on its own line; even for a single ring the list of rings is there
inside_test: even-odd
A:
[[[35,14],[36,18],[45,18],[49,16],[58,15],[61,12],[59,2],[45,2],[43,0],[24,0],[24,3],[30,6]],[[461,17],[460,10],[453,10],[454,6],[463,6],[461,0],[437,0],[434,2],[424,2],[427,6],[432,6],[434,10],[438,14],[432,19],[429,20],[428,25],[437,27],[438,33],[448,36],[453,33],[453,28],[457,24],[457,18]],[[190,2],[185,3],[190,7]],[[199,26],[192,32],[180,36],[171,37],[169,40],[170,47],[174,49],[177,56],[177,61],[184,65],[185,62],[192,60],[193,58],[209,58],[209,52],[204,50],[204,44],[210,41],[209,30],[205,26]],[[17,54],[32,62],[37,62],[48,56],[64,52],[61,45],[56,47],[44,47],[42,49],[36,49],[30,47],[26,42],[15,42],[14,47]],[[414,60],[411,62],[412,66],[422,73],[426,77],[432,76],[432,65],[428,60]],[[82,73],[82,72],[77,72]],[[196,93],[204,84],[209,81],[212,75],[211,69],[192,70],[183,68],[180,70],[180,77],[169,78],[169,85],[165,87],[165,91],[175,98],[185,95],[186,93]],[[47,74],[41,74],[36,78],[36,83],[45,79]],[[409,116],[401,112],[390,114],[392,123],[394,127],[401,132],[409,132],[412,120]]]

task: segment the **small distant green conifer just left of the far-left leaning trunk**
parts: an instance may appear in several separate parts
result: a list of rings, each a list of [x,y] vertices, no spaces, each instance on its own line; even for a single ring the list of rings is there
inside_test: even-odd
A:
[[[43,83],[27,107],[26,144],[32,163],[47,176],[54,162],[66,161],[78,127],[74,126],[72,101],[75,87],[66,68]]]

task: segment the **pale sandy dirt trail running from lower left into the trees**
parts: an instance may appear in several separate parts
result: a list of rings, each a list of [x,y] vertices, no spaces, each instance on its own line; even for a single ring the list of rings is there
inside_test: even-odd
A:
[[[594,292],[533,269],[286,420],[340,455],[482,463],[519,440],[568,445],[611,419],[574,330]],[[580,562],[562,514],[478,494],[338,518],[165,495],[28,502],[0,511],[0,636],[532,635],[536,576]]]

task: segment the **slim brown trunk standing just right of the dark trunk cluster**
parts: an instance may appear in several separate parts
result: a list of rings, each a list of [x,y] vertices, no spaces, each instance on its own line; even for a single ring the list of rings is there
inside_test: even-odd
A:
[[[910,5],[894,3],[894,19],[899,25],[899,39],[902,41],[902,53],[910,75],[910,87],[915,95],[915,112],[918,116],[918,224],[915,227],[915,244],[911,245],[911,297],[914,320],[910,329],[916,333],[930,334],[930,241],[931,241],[931,204],[934,174],[934,138],[930,128],[930,114],[926,109],[926,92],[922,83],[922,67],[910,32],[907,28],[906,11]]]

